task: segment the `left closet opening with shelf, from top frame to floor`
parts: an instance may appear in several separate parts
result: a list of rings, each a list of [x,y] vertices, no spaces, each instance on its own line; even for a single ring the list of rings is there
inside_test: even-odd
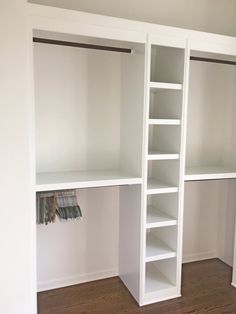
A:
[[[38,291],[118,275],[138,301],[145,45],[33,37],[84,43],[33,43],[35,191],[75,189],[83,216],[37,225]]]

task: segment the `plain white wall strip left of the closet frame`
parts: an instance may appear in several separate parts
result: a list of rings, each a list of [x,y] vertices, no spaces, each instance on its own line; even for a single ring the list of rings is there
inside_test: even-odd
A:
[[[34,313],[26,1],[0,1],[0,311]]]

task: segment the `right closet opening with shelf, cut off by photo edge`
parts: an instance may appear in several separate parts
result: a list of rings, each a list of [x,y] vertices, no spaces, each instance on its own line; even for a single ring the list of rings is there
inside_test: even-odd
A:
[[[236,62],[231,55],[191,51],[191,56]],[[183,262],[217,258],[233,268],[235,285],[236,67],[195,59],[189,76]]]

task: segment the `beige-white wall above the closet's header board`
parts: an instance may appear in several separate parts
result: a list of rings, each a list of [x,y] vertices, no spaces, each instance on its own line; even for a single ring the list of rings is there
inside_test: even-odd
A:
[[[29,2],[236,35],[235,0],[31,0]]]

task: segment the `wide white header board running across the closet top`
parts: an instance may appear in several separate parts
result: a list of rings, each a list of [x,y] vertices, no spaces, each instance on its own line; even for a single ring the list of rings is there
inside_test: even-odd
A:
[[[42,25],[42,23],[52,25],[57,20],[64,24],[64,30],[66,25],[68,26],[69,24],[73,24],[74,26],[75,24],[87,26],[86,28],[88,32],[91,32],[91,30],[94,31],[95,28],[100,28],[101,30],[102,28],[112,28],[113,33],[117,33],[117,35],[118,32],[130,32],[133,35],[135,34],[135,37],[137,36],[137,41],[140,42],[145,41],[143,38],[144,33],[150,33],[152,35],[152,41],[155,41],[155,38],[157,38],[158,41],[159,38],[169,38],[169,40],[173,39],[174,42],[176,42],[177,39],[185,40],[188,38],[192,40],[192,46],[194,46],[194,49],[199,47],[199,41],[201,41],[201,45],[203,46],[205,46],[205,43],[207,42],[207,47],[213,44],[214,50],[219,50],[226,54],[236,54],[236,38],[231,36],[133,21],[38,4],[28,3],[27,6],[28,14],[31,18],[33,18],[35,27]],[[107,37],[105,33],[107,34],[107,32],[104,32],[104,37]]]

